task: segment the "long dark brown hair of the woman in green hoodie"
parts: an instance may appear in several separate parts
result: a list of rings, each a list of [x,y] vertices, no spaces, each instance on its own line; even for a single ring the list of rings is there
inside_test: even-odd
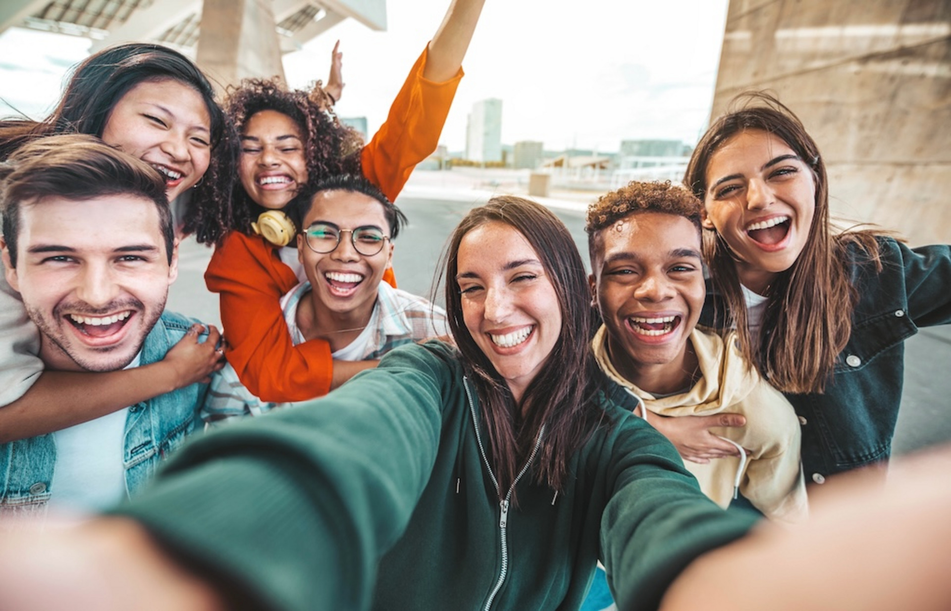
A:
[[[525,390],[523,410],[515,405],[508,386],[466,328],[462,297],[456,285],[459,244],[476,227],[494,221],[510,225],[532,245],[552,281],[561,310],[561,333],[544,367]],[[534,468],[535,481],[564,490],[571,455],[588,439],[604,413],[594,401],[603,377],[589,349],[593,328],[591,293],[571,234],[551,211],[534,201],[495,197],[472,209],[456,227],[450,238],[445,270],[449,326],[462,353],[463,365],[478,391],[499,489],[504,495],[511,486],[544,425],[545,438]]]

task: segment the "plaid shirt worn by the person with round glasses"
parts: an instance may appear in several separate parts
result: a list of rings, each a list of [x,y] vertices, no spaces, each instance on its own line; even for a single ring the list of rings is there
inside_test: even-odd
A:
[[[304,280],[281,297],[281,309],[294,345],[306,341],[297,326],[297,309],[301,298],[309,294],[310,282]],[[375,360],[403,344],[448,335],[449,325],[446,311],[439,306],[380,282],[377,303],[363,333],[371,334],[370,340],[359,358],[353,360]],[[362,340],[363,334],[360,334],[354,341]],[[288,405],[292,404],[269,403],[254,396],[244,388],[238,372],[231,365],[225,365],[212,377],[202,417],[210,423],[241,415],[260,415]]]

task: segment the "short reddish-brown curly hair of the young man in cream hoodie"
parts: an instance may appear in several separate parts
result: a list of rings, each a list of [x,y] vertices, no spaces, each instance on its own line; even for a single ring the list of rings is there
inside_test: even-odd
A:
[[[631,181],[620,189],[606,193],[588,206],[585,232],[588,248],[594,259],[594,239],[599,231],[638,212],[660,212],[684,217],[701,234],[700,214],[703,203],[689,189],[670,181]]]

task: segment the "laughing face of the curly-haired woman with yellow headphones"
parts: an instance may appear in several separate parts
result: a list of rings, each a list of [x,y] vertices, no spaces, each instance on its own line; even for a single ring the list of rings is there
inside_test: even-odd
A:
[[[244,124],[239,172],[248,197],[280,210],[307,183],[301,127],[277,110],[262,110]]]

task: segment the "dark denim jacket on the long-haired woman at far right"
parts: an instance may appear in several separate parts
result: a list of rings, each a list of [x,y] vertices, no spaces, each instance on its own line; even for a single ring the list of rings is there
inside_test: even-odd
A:
[[[786,393],[803,425],[806,482],[888,460],[902,401],[903,342],[919,327],[951,322],[951,246],[910,249],[888,238],[879,244],[881,274],[858,249],[845,261],[859,303],[825,393]],[[702,324],[715,322],[717,298],[708,291]]]

